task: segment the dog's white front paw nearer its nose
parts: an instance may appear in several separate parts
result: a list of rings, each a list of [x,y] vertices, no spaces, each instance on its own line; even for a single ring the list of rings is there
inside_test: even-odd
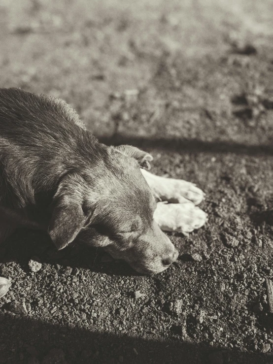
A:
[[[207,214],[192,202],[166,203],[158,202],[154,219],[165,232],[189,232],[201,228],[207,221]]]

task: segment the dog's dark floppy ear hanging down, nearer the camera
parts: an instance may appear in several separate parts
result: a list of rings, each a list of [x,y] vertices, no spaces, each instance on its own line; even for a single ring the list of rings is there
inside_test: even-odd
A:
[[[48,233],[57,249],[71,243],[89,218],[82,209],[82,196],[79,185],[71,184],[71,178],[61,182],[53,199],[53,212]],[[72,178],[75,183],[74,179]]]

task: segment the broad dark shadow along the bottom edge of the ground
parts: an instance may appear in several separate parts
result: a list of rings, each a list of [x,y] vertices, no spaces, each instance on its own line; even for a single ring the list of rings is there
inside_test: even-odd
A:
[[[0,312],[0,363],[266,363],[267,356],[60,327]],[[269,358],[268,358],[269,359]]]

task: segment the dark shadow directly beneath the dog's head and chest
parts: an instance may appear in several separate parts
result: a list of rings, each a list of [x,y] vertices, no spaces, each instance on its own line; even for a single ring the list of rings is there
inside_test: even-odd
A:
[[[139,275],[124,261],[115,261],[100,248],[84,244],[70,244],[57,250],[46,233],[21,229],[1,244],[0,263],[17,262],[25,271],[30,271],[28,262],[38,257],[41,263],[84,268],[108,275]]]

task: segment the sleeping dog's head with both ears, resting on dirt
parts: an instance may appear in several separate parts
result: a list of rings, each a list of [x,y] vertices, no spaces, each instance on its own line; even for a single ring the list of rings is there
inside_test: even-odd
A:
[[[153,220],[156,202],[140,171],[152,157],[127,145],[100,148],[92,169],[61,180],[49,224],[53,242],[62,249],[77,237],[140,273],[165,270],[178,253]]]

